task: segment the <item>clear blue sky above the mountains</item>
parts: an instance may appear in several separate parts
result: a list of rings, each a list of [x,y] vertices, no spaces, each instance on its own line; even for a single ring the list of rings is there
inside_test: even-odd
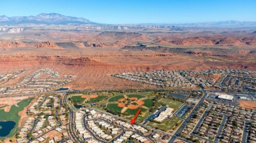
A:
[[[0,15],[59,13],[103,24],[256,21],[255,0],[2,0]]]

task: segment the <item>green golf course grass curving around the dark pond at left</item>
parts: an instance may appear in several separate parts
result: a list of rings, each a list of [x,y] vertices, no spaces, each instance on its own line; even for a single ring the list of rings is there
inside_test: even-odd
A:
[[[22,111],[30,102],[35,98],[25,99],[18,103],[18,106],[12,105],[11,110],[9,112],[5,112],[3,109],[0,110],[0,121],[14,121],[16,123],[15,127],[12,131],[7,135],[7,137],[14,136],[18,132],[18,122],[20,121],[20,116],[18,116],[18,112]],[[3,137],[0,137],[3,140]]]

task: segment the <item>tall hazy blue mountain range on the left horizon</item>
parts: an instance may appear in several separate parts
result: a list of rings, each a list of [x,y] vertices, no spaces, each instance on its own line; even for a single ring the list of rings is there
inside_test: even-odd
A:
[[[62,14],[38,14],[37,16],[0,16],[0,24],[96,24],[85,18],[64,16]]]

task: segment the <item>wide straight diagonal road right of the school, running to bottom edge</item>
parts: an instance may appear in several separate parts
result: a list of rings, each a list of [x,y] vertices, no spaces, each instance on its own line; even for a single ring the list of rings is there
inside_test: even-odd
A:
[[[169,143],[174,142],[175,139],[179,136],[179,134],[181,133],[182,129],[184,129],[184,127],[186,127],[186,124],[188,123],[188,121],[190,121],[192,116],[196,113],[196,110],[198,110],[200,104],[203,103],[203,101],[205,100],[206,96],[207,96],[207,93],[203,90],[203,97],[200,99],[198,104],[196,104],[196,106],[194,106],[194,109],[189,114],[188,118],[184,119],[184,121],[181,123],[181,126],[179,127],[179,129],[177,129],[175,134],[173,136],[171,136],[171,139],[169,140]]]

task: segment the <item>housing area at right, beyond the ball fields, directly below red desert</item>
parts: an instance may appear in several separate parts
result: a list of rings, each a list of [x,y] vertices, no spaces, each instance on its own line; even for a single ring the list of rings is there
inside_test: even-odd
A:
[[[152,72],[122,72],[113,74],[117,78],[143,82],[161,87],[186,87],[196,86],[204,89],[221,89],[223,91],[256,91],[256,72],[239,71],[232,69],[215,69],[208,71],[152,71]]]

